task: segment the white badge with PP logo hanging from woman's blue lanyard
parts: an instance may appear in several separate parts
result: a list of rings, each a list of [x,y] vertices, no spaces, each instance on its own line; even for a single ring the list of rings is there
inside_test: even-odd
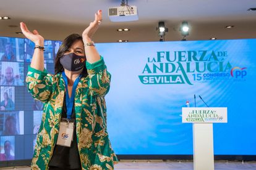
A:
[[[57,145],[70,147],[74,133],[74,122],[61,121]]]

